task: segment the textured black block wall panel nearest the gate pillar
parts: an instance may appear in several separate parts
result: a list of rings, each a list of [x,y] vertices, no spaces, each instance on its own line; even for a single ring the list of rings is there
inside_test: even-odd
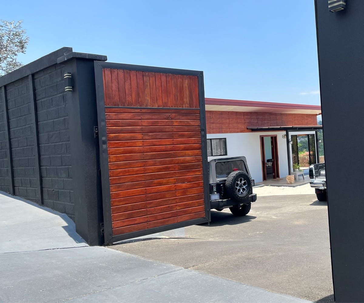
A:
[[[64,64],[34,74],[44,206],[74,220],[71,145]]]

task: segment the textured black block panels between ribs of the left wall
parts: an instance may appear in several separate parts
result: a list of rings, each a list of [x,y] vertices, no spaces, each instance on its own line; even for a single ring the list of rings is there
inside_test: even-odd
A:
[[[33,75],[39,140],[40,173],[43,201],[37,192],[33,105],[29,77],[5,85],[9,135],[12,155],[14,194],[75,219],[68,127],[67,94],[64,91],[64,64],[56,64]],[[4,126],[4,100],[0,97],[0,186],[9,189],[8,146]]]

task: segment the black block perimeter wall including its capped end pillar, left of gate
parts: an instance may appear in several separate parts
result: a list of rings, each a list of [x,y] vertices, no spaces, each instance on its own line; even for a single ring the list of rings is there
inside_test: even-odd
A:
[[[0,77],[0,191],[67,214],[90,245],[103,244],[95,60],[63,47]]]

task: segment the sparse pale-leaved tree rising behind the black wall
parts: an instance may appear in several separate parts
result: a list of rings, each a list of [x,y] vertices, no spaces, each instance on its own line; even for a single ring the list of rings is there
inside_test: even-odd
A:
[[[25,53],[29,42],[22,22],[0,19],[0,77],[23,65],[16,59],[19,53]]]

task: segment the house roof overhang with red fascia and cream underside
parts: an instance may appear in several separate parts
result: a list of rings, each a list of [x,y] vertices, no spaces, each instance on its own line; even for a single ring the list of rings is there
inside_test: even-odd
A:
[[[205,98],[206,111],[304,113],[321,115],[320,105]]]

